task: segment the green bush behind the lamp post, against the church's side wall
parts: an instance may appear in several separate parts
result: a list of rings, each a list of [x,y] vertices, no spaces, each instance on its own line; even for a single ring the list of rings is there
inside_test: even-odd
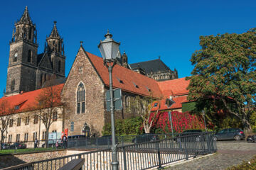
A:
[[[115,120],[115,132],[117,136],[142,134],[142,118],[137,116]],[[107,123],[103,127],[102,135],[111,135],[111,123]]]

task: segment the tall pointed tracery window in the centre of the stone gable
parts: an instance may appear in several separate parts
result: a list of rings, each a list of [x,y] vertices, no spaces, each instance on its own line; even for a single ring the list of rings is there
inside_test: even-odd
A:
[[[82,83],[77,91],[77,113],[85,113],[85,86]]]

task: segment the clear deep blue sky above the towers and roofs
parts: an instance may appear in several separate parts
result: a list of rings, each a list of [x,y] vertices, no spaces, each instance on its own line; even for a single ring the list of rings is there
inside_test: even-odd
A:
[[[65,42],[68,75],[80,41],[88,52],[100,56],[97,48],[110,29],[128,62],[143,62],[161,56],[178,77],[189,76],[189,61],[199,50],[200,35],[243,33],[254,28],[256,1],[1,1],[0,7],[0,96],[6,87],[6,74],[14,22],[28,6],[38,30],[38,53],[43,52],[46,35],[57,21]]]

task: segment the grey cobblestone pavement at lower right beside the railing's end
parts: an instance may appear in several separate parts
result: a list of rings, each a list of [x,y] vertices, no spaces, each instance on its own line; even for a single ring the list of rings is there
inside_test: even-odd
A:
[[[227,169],[230,166],[241,164],[243,161],[248,161],[256,155],[256,143],[245,141],[221,141],[217,142],[217,148],[216,154],[170,166],[166,169]]]

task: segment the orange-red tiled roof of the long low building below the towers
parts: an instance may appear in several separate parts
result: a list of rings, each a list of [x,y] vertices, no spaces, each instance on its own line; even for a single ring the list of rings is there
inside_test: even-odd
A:
[[[61,91],[63,89],[64,84],[58,84],[53,86],[53,89],[57,89]],[[47,88],[47,87],[46,87]],[[43,88],[45,89],[45,88]],[[31,108],[35,107],[38,104],[38,101],[36,100],[43,91],[43,89],[38,89],[35,91],[28,91],[23,94],[17,94],[14,96],[8,96],[8,97],[2,97],[0,98],[0,103],[3,101],[7,102],[7,105],[14,110],[15,106],[19,106],[17,110],[14,110],[14,113],[21,113],[24,111],[31,110]],[[59,93],[60,95],[60,93]],[[60,101],[57,101],[60,103]],[[60,103],[61,104],[61,103]]]

